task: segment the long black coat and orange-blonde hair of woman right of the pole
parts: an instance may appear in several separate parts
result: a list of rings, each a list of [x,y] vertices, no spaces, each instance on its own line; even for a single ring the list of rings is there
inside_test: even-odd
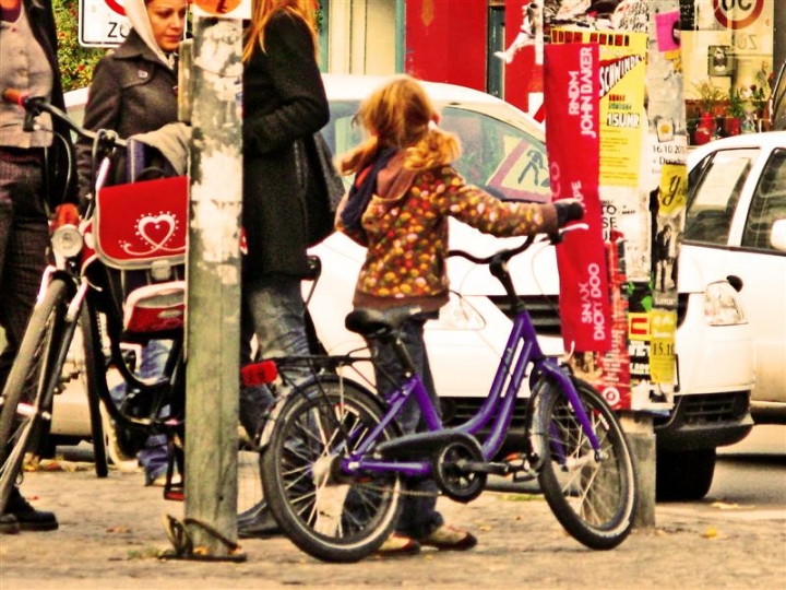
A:
[[[245,281],[307,274],[295,142],[330,111],[317,64],[311,0],[255,0],[243,49]],[[264,48],[263,48],[264,47]]]

